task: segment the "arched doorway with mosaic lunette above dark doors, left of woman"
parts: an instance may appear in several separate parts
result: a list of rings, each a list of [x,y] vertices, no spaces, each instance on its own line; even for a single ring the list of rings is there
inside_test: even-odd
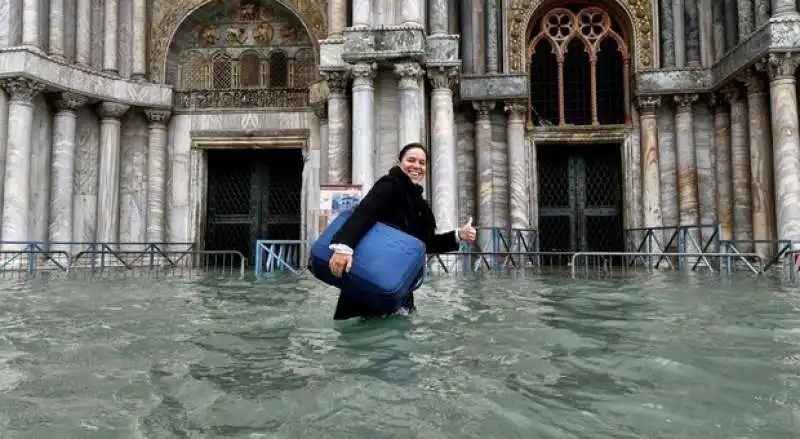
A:
[[[252,261],[256,240],[302,236],[303,154],[296,142],[274,139],[286,137],[276,129],[282,111],[308,107],[316,70],[310,36],[272,0],[215,1],[179,26],[166,67],[176,111],[198,118],[235,112],[243,121],[235,131],[200,130],[214,139],[200,142],[206,249],[238,250]]]

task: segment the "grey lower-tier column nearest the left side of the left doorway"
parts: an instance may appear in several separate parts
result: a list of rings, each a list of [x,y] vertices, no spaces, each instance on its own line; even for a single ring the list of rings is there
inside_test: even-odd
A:
[[[150,121],[147,141],[147,242],[167,240],[167,143],[172,114],[167,110],[145,110]]]

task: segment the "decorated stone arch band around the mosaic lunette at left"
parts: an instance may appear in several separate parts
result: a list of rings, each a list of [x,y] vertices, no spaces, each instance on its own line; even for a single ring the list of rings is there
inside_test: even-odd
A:
[[[164,83],[167,71],[167,56],[175,33],[181,24],[203,6],[223,0],[171,0],[162,3],[162,8],[153,13],[155,25],[150,31],[150,80]],[[286,8],[300,21],[311,37],[314,56],[319,62],[319,40],[327,35],[327,0],[271,0]]]

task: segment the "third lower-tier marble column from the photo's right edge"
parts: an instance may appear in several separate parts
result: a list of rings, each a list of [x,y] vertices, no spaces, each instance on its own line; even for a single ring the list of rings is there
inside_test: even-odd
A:
[[[722,89],[731,107],[731,181],[733,184],[733,239],[752,241],[753,216],[750,208],[750,141],[747,102],[739,88],[731,84]],[[753,250],[749,242],[736,244],[739,251]]]

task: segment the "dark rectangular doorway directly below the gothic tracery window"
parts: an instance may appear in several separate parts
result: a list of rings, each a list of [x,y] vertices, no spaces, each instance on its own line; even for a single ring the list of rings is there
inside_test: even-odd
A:
[[[624,251],[619,144],[537,145],[541,251]]]

